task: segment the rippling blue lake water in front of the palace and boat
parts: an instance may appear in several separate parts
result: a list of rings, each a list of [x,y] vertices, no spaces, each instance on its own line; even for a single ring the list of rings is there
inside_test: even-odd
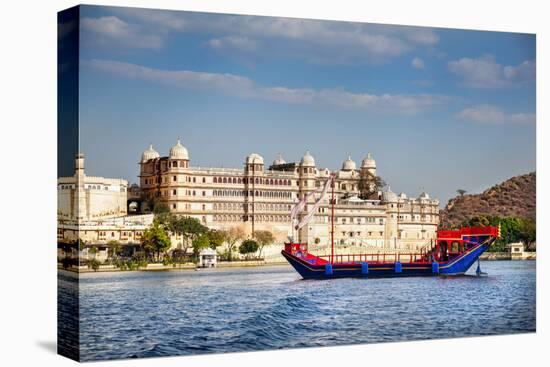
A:
[[[83,274],[81,358],[534,332],[535,262],[482,268],[489,276],[326,281],[287,266]]]

